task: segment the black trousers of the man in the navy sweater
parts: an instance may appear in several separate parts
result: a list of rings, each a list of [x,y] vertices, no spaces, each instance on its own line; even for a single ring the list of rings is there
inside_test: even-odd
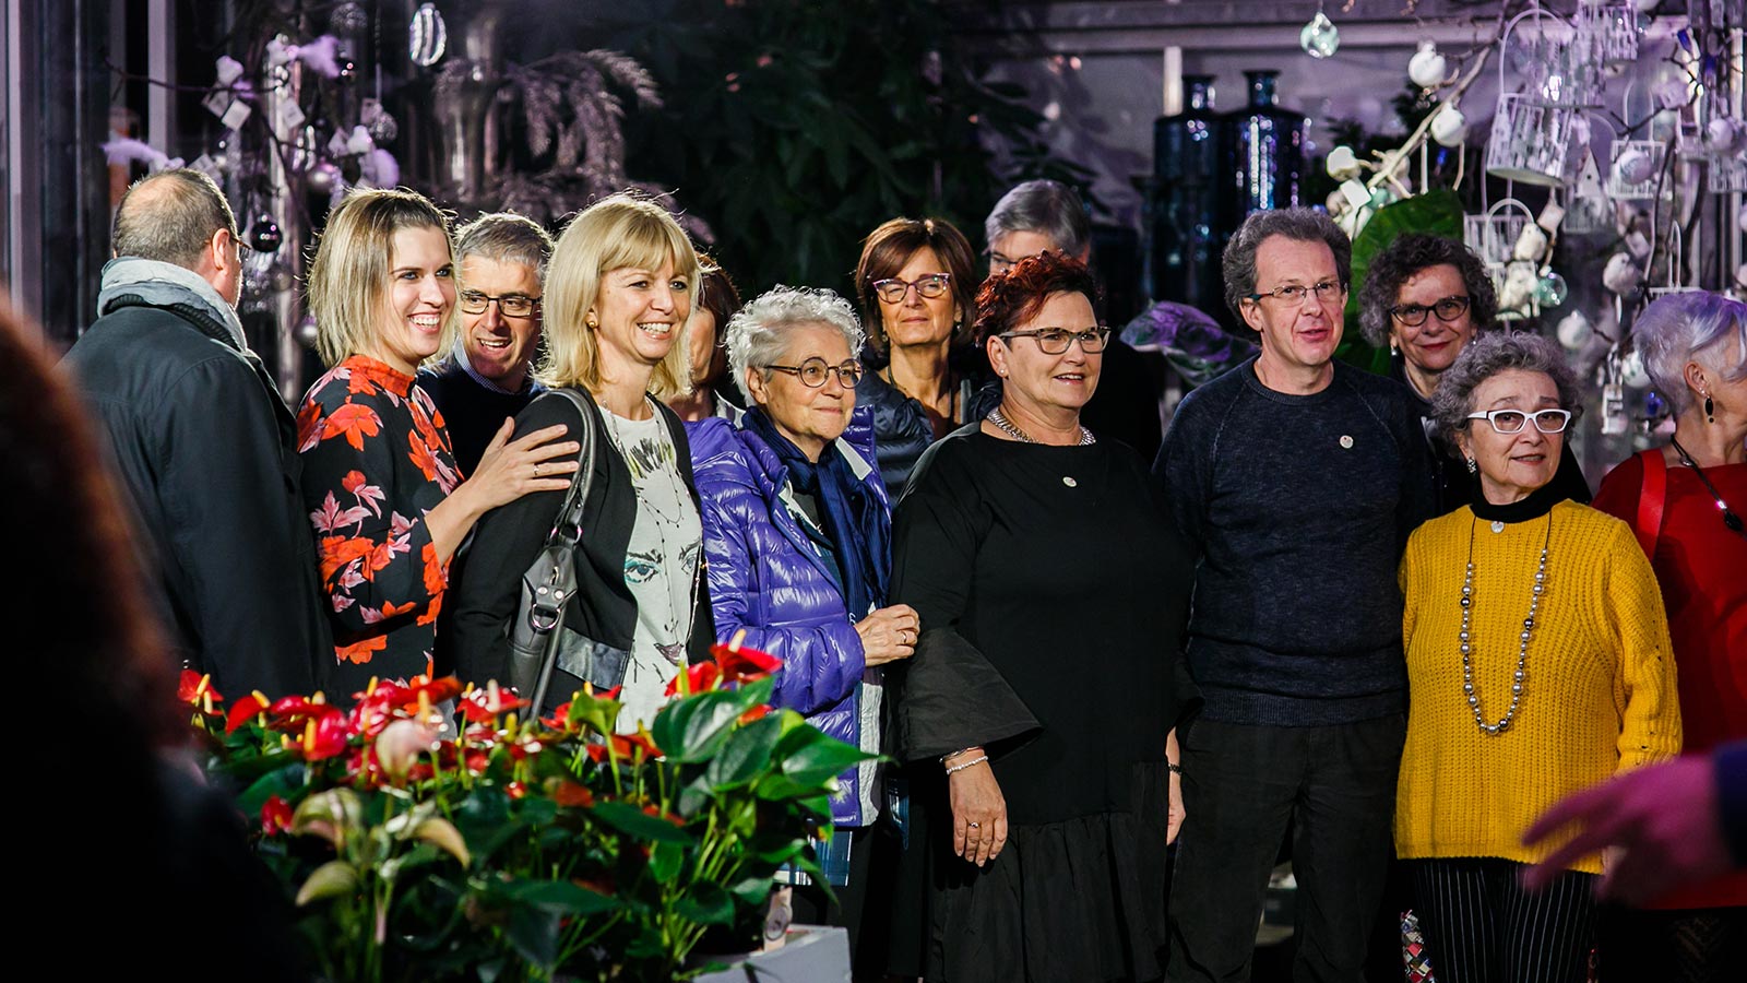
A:
[[[1256,925],[1288,826],[1298,880],[1300,983],[1359,983],[1394,854],[1406,715],[1275,728],[1195,721],[1170,880],[1170,983],[1247,983]]]

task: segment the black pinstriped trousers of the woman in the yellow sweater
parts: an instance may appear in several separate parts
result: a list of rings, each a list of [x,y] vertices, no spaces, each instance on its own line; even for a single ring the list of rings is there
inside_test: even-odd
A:
[[[1529,894],[1523,864],[1412,861],[1413,897],[1438,983],[1585,983],[1595,948],[1595,875],[1565,871]]]

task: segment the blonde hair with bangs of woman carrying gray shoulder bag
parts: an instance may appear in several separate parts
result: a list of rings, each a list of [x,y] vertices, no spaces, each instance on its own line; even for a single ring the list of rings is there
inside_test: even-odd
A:
[[[697,310],[699,262],[692,240],[680,222],[655,201],[613,194],[596,201],[564,226],[545,282],[545,359],[535,378],[549,387],[582,387],[599,392],[601,339],[589,327],[589,311],[601,303],[601,280],[624,268],[660,269],[673,261],[673,273],[685,280],[690,310]],[[659,401],[692,392],[692,359],[685,334],[692,318],[655,366],[648,394]]]

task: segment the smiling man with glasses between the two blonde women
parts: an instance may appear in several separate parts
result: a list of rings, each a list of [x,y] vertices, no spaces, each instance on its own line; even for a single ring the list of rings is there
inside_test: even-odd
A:
[[[540,348],[540,294],[552,236],[510,212],[473,219],[456,234],[456,306],[461,334],[419,387],[442,411],[463,474],[479,467],[503,420],[540,394],[533,381]]]

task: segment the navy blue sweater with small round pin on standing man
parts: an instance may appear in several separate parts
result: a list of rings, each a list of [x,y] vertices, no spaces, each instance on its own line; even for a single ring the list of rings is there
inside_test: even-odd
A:
[[[1197,554],[1188,665],[1207,719],[1405,710],[1396,567],[1431,481],[1401,383],[1336,362],[1328,388],[1288,395],[1251,359],[1183,401],[1153,474]]]

